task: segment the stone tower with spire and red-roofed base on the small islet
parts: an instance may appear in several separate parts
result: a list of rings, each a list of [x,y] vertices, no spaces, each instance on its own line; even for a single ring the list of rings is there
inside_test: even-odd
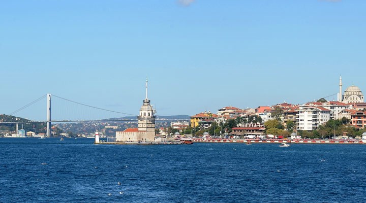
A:
[[[147,98],[147,79],[146,97],[142,100],[140,114],[137,116],[138,128],[127,128],[124,131],[116,132],[116,142],[154,142],[155,140],[155,110],[150,105]]]

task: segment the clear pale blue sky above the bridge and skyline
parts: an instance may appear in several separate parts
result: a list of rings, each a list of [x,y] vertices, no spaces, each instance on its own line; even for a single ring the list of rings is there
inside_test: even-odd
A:
[[[340,75],[343,90],[366,92],[365,9],[361,0],[5,1],[0,113],[51,93],[137,115],[146,77],[158,115],[301,104],[337,93]],[[16,115],[43,120],[42,102]]]

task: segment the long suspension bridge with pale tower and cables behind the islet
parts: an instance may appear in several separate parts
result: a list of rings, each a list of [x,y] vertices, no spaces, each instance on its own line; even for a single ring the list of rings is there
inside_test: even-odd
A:
[[[52,97],[52,100],[51,100]],[[27,121],[7,121],[7,118],[10,116],[16,115],[18,112],[27,109],[30,106],[33,106],[34,104],[37,104],[39,101],[45,99],[47,100],[46,110],[47,110],[47,116],[46,120],[27,120]],[[64,101],[69,105],[66,105],[66,108],[59,108],[63,105],[54,105],[54,100],[56,99],[56,104],[60,104],[60,101]],[[52,104],[52,105],[51,105]],[[70,106],[72,104],[73,106]],[[81,108],[81,107],[84,107]],[[44,108],[44,107],[43,107]],[[90,111],[90,109],[97,110],[98,112]],[[80,113],[81,111],[84,111],[83,113]],[[136,110],[138,111],[138,110]],[[58,119],[52,120],[52,115],[56,112],[58,115]],[[104,113],[101,113],[104,112]],[[73,118],[73,119],[65,119],[61,118],[59,115],[79,115],[79,118]],[[90,119],[90,117],[96,117],[95,115],[98,115],[99,119]],[[129,118],[117,118],[116,115],[125,115],[129,116]],[[36,100],[32,101],[31,103],[17,109],[16,111],[10,113],[9,115],[3,117],[0,120],[1,124],[28,124],[28,123],[46,123],[46,135],[47,137],[50,137],[51,135],[51,123],[62,123],[62,122],[111,122],[111,121],[137,121],[137,114],[130,114],[130,113],[124,113],[124,112],[118,112],[113,110],[108,110],[104,108],[94,107],[86,104],[79,103],[77,101],[73,101],[67,98],[63,98],[54,94],[45,94]],[[103,119],[100,119],[100,117],[104,117]],[[83,119],[83,118],[89,118],[89,119]],[[185,119],[156,119],[156,121],[183,121]]]

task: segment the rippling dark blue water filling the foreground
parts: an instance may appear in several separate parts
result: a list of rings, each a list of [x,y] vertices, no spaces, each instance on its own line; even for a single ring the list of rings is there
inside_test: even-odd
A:
[[[1,138],[0,202],[366,202],[364,145],[93,142]]]

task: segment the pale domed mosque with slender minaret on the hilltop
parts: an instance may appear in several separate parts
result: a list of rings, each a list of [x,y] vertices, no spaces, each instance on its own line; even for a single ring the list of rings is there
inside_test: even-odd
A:
[[[338,94],[338,101],[349,104],[349,103],[363,103],[363,94],[360,88],[357,86],[348,87],[342,95],[342,76],[340,77],[340,92]]]

